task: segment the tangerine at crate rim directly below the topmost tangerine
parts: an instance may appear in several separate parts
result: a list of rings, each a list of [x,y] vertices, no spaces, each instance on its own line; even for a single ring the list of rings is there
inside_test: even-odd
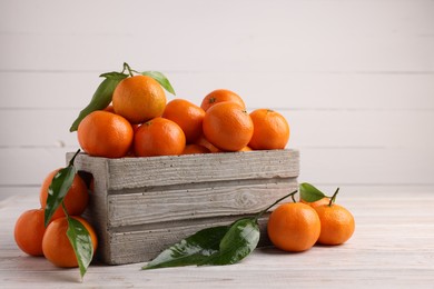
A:
[[[155,118],[137,129],[134,146],[138,157],[181,155],[186,137],[176,122]]]

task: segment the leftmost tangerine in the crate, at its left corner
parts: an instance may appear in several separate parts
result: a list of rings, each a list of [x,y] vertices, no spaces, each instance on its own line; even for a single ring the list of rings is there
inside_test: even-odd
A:
[[[134,130],[121,116],[97,110],[81,120],[77,137],[80,147],[90,156],[121,158],[132,143]]]

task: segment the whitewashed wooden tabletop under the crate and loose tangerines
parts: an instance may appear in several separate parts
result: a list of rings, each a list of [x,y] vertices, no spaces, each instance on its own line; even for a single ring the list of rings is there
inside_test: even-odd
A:
[[[257,249],[225,267],[141,271],[144,263],[92,265],[82,283],[78,269],[59,269],[28,257],[13,240],[18,216],[38,207],[38,190],[0,201],[1,288],[434,288],[434,190],[343,188],[338,202],[355,216],[343,246],[302,253]]]

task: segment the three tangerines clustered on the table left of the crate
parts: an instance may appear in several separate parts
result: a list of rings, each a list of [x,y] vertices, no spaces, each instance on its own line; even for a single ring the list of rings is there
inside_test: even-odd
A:
[[[45,256],[58,267],[78,267],[76,253],[67,236],[68,219],[61,206],[55,211],[48,227],[45,226],[49,187],[58,172],[59,170],[50,172],[42,182],[39,193],[41,208],[27,210],[18,218],[14,227],[14,239],[18,247],[30,256]],[[76,173],[63,199],[63,206],[69,216],[81,222],[88,230],[95,251],[98,246],[97,235],[89,222],[80,217],[88,200],[88,186]]]

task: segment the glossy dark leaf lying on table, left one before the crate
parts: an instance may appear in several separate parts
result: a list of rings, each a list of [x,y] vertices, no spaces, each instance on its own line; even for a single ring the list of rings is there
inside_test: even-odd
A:
[[[229,226],[207,228],[164,250],[141,269],[198,265],[219,249]]]

